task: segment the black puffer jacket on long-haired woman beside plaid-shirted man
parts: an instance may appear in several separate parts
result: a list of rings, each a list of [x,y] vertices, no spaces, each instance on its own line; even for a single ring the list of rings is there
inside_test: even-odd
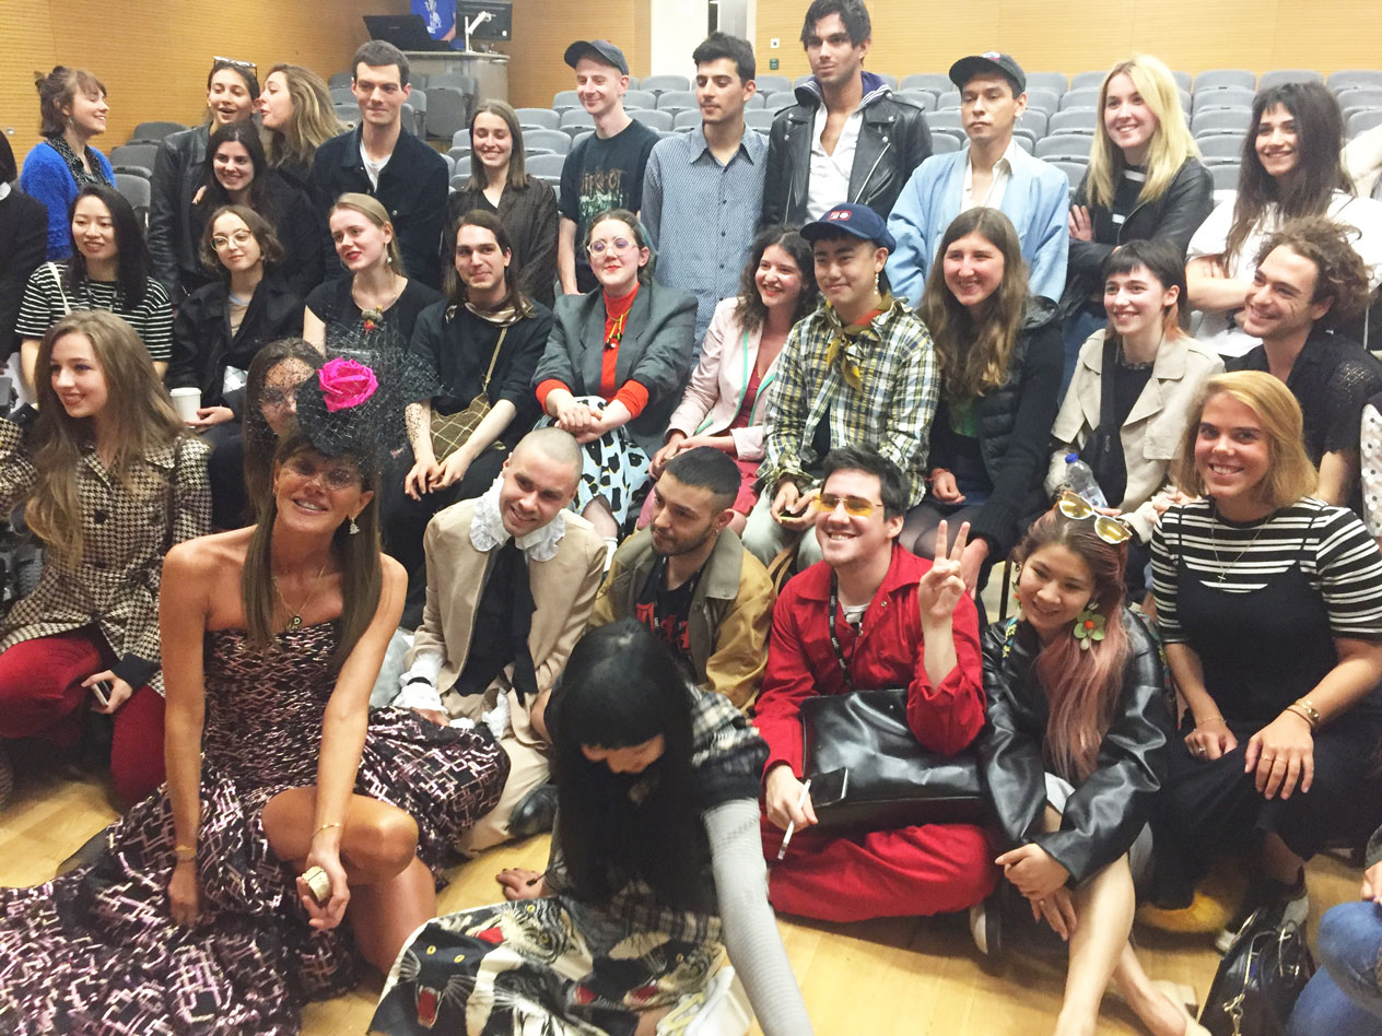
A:
[[[1007,381],[976,402],[978,449],[994,490],[972,519],[970,537],[988,540],[988,557],[995,561],[1017,543],[1027,519],[1046,506],[1042,481],[1050,461],[1061,349],[1056,304],[1049,298],[1032,298],[1017,334]],[[931,468],[951,468],[956,446],[943,385],[931,421]]]

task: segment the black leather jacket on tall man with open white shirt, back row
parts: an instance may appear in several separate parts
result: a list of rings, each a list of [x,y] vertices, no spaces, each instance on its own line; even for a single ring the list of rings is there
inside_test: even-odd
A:
[[[907,186],[912,170],[931,153],[931,131],[920,108],[891,97],[872,72],[864,73],[864,124],[850,167],[850,196],[836,202],[867,204],[884,220]],[[768,134],[768,164],[763,185],[763,227],[806,222],[811,180],[811,130],[822,104],[813,79],[796,88],[797,102],[784,108]],[[832,202],[833,204],[833,202]]]

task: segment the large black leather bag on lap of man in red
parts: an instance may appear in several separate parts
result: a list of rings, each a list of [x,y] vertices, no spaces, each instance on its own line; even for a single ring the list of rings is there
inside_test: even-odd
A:
[[[850,691],[802,702],[803,778],[844,771],[843,797],[815,801],[818,830],[891,830],[916,823],[983,823],[988,803],[978,756],[941,756],[907,725],[907,691]]]

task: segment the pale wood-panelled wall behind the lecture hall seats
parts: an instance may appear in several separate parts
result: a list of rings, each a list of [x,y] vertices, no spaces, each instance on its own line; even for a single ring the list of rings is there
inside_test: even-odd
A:
[[[658,0],[514,0],[510,99],[547,105],[572,86],[561,54],[574,39],[616,40],[636,76],[688,73],[687,61],[650,68]],[[757,0],[759,68],[807,72],[797,41],[806,0]],[[57,62],[93,69],[111,91],[109,151],[144,119],[202,117],[210,58],[343,69],[365,40],[361,15],[406,11],[406,0],[0,0],[0,131],[22,156],[37,140],[35,70]],[[1107,68],[1144,50],[1172,68],[1341,68],[1382,65],[1382,3],[1361,0],[873,0],[867,66],[894,75],[944,70],[963,54],[1012,51],[1031,70]],[[213,14],[214,11],[214,14]],[[777,36],[778,50],[768,41]],[[665,52],[665,51],[663,51]]]

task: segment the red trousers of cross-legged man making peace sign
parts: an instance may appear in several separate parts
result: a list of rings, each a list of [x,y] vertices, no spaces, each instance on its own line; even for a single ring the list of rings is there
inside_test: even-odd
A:
[[[983,827],[927,823],[833,837],[797,830],[778,859],[782,829],[761,819],[768,899],[781,913],[825,921],[965,910],[994,891],[994,851]]]

